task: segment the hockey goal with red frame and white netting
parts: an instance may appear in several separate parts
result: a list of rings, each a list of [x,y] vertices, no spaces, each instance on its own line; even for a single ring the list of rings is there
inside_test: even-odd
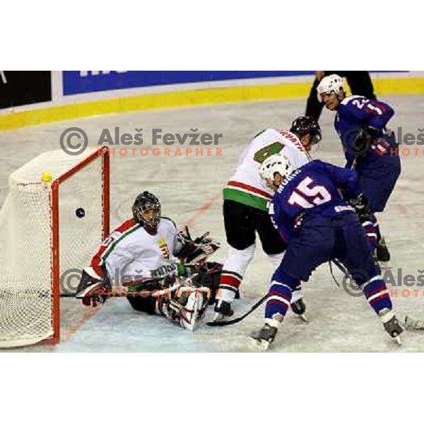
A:
[[[52,175],[42,182],[43,173]],[[48,176],[46,179],[49,179]],[[0,347],[57,343],[66,275],[109,233],[109,151],[42,153],[9,177],[0,211]]]

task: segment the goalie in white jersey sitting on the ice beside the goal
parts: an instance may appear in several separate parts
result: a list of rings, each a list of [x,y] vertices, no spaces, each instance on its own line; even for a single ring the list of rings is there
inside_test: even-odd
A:
[[[218,243],[208,233],[191,240],[178,232],[172,220],[161,216],[160,202],[149,192],[137,196],[132,211],[134,218],[107,237],[83,270],[76,298],[97,306],[124,288],[135,310],[163,314],[193,330],[204,317],[213,288],[204,277],[220,272],[220,264],[204,262]],[[196,265],[199,257],[201,264]]]

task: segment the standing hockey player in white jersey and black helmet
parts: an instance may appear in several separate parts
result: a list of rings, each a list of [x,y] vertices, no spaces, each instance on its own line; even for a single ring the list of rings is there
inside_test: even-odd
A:
[[[256,233],[274,266],[281,263],[285,242],[273,227],[268,213],[271,189],[259,176],[259,167],[270,155],[283,152],[297,169],[309,162],[312,146],[321,141],[319,124],[310,117],[295,119],[290,131],[266,129],[259,133],[240,156],[237,170],[223,190],[223,215],[228,242],[228,258],[223,264],[215,306],[215,319],[233,314],[231,302],[238,292],[247,266],[254,257]],[[302,293],[293,293],[292,309],[305,312]]]

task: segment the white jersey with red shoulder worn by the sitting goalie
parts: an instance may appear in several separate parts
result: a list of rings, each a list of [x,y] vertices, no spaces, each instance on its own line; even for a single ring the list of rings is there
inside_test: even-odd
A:
[[[91,267],[102,277],[102,266],[115,286],[124,281],[165,276],[177,271],[174,254],[181,248],[177,227],[169,218],[160,218],[158,232],[150,235],[134,219],[127,220],[102,243]]]

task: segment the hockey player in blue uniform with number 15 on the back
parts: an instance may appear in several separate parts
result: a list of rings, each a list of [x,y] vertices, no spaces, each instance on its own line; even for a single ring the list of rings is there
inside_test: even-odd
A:
[[[361,225],[369,219],[370,210],[356,172],[320,160],[293,170],[285,155],[276,154],[264,161],[260,173],[276,191],[269,213],[288,249],[271,279],[265,324],[252,338],[268,348],[298,282],[307,281],[324,262],[339,259],[365,293],[384,329],[400,343],[403,329],[392,312],[386,283]],[[339,190],[350,201],[343,199]]]

